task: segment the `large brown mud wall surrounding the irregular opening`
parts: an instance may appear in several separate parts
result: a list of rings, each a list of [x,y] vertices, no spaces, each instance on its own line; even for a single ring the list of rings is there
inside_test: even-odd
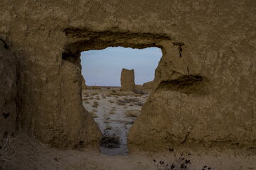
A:
[[[4,0],[0,34],[20,62],[21,127],[58,147],[98,146],[80,52],[161,47],[156,91],[129,148],[255,148],[255,1]],[[182,144],[182,145],[181,145]]]

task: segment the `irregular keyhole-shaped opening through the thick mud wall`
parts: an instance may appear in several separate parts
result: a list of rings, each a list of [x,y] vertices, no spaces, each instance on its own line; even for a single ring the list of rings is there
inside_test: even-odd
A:
[[[102,154],[127,154],[128,130],[153,88],[145,83],[154,79],[161,55],[158,47],[81,52],[82,103],[102,131]]]

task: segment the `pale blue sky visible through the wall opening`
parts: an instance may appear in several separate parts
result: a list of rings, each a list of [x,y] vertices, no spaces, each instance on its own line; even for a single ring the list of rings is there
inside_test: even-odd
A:
[[[154,70],[162,56],[158,47],[142,50],[107,47],[81,52],[82,75],[87,86],[121,86],[122,68],[134,69],[135,84],[154,79]]]

